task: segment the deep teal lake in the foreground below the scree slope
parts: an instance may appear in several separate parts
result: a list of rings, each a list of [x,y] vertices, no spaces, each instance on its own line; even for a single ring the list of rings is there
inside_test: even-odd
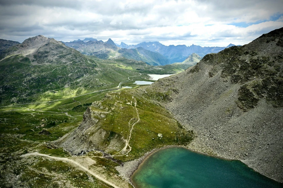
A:
[[[283,187],[237,160],[170,147],[153,153],[132,177],[137,187]]]

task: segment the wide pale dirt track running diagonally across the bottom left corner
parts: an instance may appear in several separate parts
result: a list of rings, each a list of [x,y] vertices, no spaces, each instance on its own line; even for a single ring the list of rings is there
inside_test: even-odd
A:
[[[108,185],[110,186],[113,186],[114,188],[120,188],[116,185],[114,185],[113,183],[107,181],[106,179],[102,178],[101,176],[97,175],[97,174],[94,174],[92,171],[90,171],[89,169],[87,169],[86,167],[82,166],[81,164],[77,163],[76,161],[73,161],[72,159],[70,158],[61,158],[61,157],[53,157],[53,156],[49,156],[49,155],[45,155],[45,154],[41,154],[41,153],[38,153],[38,152],[34,152],[34,153],[28,153],[28,154],[25,154],[25,155],[21,155],[21,157],[26,157],[26,156],[30,156],[30,155],[38,155],[38,156],[43,156],[43,157],[48,157],[50,159],[56,159],[56,160],[61,160],[61,161],[68,161],[70,163],[73,163],[75,164],[76,166],[79,166],[80,168],[82,168],[83,170],[87,171],[88,173],[90,173],[91,175],[93,175],[95,178],[107,183]]]

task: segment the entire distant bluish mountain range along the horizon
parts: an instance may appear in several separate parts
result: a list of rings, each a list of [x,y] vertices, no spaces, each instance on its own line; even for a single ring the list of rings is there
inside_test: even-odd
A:
[[[226,47],[201,47],[198,45],[188,47],[186,45],[165,46],[157,41],[142,42],[137,45],[126,45],[124,42],[121,42],[120,45],[117,45],[111,39],[103,42],[93,38],[63,43],[86,55],[94,55],[104,59],[126,57],[144,61],[149,65],[168,65],[175,62],[183,62],[193,53],[203,57],[208,53],[218,53],[225,48],[234,46],[233,44],[229,44]]]

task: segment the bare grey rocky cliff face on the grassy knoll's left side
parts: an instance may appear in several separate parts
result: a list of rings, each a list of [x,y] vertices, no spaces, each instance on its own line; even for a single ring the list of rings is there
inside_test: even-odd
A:
[[[54,143],[74,155],[79,155],[82,151],[103,150],[108,153],[122,149],[125,140],[115,132],[103,129],[99,124],[107,113],[109,112],[88,107],[83,115],[82,123]]]

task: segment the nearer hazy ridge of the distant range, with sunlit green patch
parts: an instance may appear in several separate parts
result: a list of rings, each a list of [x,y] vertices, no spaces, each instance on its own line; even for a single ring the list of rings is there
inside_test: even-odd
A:
[[[77,41],[64,42],[68,47],[74,48],[86,55],[94,55],[102,59],[126,57],[137,61],[144,61],[149,65],[167,65],[169,61],[160,53],[151,52],[142,48],[138,49],[122,49],[108,39],[108,41]]]

